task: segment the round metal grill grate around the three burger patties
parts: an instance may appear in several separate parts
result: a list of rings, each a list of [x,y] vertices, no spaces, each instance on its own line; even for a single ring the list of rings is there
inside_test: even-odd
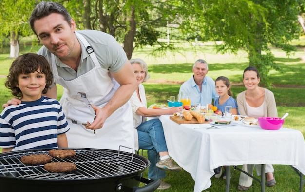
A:
[[[0,177],[37,180],[77,180],[126,175],[146,169],[149,162],[138,155],[104,149],[74,149],[76,155],[69,158],[52,158],[51,162],[71,162],[76,170],[67,173],[51,173],[43,165],[24,165],[20,159],[31,154],[48,154],[49,150],[19,152],[0,156]],[[3,153],[5,154],[5,153]]]

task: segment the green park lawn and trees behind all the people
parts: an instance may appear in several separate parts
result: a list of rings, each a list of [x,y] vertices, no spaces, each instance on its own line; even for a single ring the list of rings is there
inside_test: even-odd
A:
[[[4,81],[14,57],[37,52],[41,46],[27,19],[38,0],[2,0],[0,29],[0,102],[12,96]],[[256,66],[263,84],[273,91],[279,116],[285,112],[286,128],[305,125],[305,66],[303,37],[304,0],[61,0],[78,29],[112,34],[128,58],[142,58],[149,65],[144,83],[148,106],[166,104],[180,85],[191,78],[197,59],[209,64],[208,76],[225,75],[233,97],[245,90],[243,70]],[[62,87],[58,86],[59,100]],[[0,109],[2,111],[2,109]],[[187,144],[186,144],[187,145]],[[280,152],[280,151],[279,151]],[[146,155],[144,151],[144,155]],[[277,185],[267,192],[297,192],[299,177],[285,165],[274,165]],[[238,171],[232,171],[231,192],[237,192]],[[147,172],[145,172],[147,174]],[[145,175],[147,176],[147,175]],[[225,180],[212,179],[204,192],[225,191]],[[164,192],[192,192],[194,181],[186,171],[168,173],[172,188]],[[260,191],[253,182],[250,192]]]

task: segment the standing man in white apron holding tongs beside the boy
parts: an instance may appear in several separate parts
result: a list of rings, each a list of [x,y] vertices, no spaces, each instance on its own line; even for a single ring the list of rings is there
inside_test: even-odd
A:
[[[119,43],[101,31],[76,32],[75,21],[55,2],[40,2],[31,14],[30,25],[44,45],[38,54],[49,61],[55,83],[64,87],[60,103],[71,127],[67,132],[69,147],[118,150],[122,145],[133,149],[129,98],[137,83]],[[79,92],[86,94],[96,118]],[[56,85],[46,96],[57,97]],[[87,122],[91,125],[81,124]],[[128,148],[121,149],[131,151]]]

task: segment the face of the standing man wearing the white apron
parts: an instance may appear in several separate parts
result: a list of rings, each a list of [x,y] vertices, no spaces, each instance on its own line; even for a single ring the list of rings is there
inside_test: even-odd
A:
[[[40,42],[51,53],[59,58],[69,57],[76,41],[73,19],[70,26],[61,14],[52,13],[34,21],[34,29]]]

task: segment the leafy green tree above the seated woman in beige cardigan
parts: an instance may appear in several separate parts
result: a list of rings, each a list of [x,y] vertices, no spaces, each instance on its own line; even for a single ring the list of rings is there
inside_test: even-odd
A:
[[[244,49],[249,65],[257,67],[262,81],[269,85],[269,70],[281,71],[269,46],[279,47],[287,54],[295,50],[289,42],[299,37],[296,21],[302,3],[303,0],[194,0],[188,13],[190,19],[180,25],[181,31],[222,40],[224,43],[217,45],[221,53]]]

